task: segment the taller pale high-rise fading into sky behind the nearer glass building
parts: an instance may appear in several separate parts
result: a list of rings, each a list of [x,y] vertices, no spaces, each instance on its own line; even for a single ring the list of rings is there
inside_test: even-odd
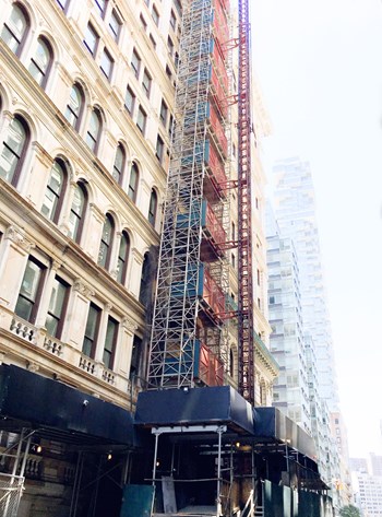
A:
[[[293,157],[277,162],[273,173],[275,218],[298,256],[303,328],[314,342],[320,396],[334,410],[338,395],[310,166]]]

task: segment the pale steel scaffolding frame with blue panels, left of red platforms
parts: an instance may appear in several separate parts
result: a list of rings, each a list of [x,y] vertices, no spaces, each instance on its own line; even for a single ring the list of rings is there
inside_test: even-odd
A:
[[[223,167],[226,160],[211,119],[214,110],[211,81],[213,69],[216,72],[217,67],[213,57],[213,0],[183,2],[171,162],[151,333],[148,389],[194,386],[200,282],[203,281],[201,244],[205,181],[213,184],[216,193],[213,210],[217,220],[227,224],[226,196],[211,179],[213,174],[208,169],[212,145]],[[219,78],[218,81],[218,87],[224,91],[224,81]],[[216,124],[225,131],[224,118]],[[228,289],[226,269],[225,258],[217,258],[210,268],[211,277],[224,289]],[[227,346],[222,346],[223,325],[223,320],[212,325],[205,332],[208,341],[205,344],[228,364]]]

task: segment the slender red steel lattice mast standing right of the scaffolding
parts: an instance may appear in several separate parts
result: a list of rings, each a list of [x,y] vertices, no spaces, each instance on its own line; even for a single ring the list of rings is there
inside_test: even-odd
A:
[[[239,0],[238,266],[239,391],[254,404],[254,341],[251,225],[251,63],[249,2]]]

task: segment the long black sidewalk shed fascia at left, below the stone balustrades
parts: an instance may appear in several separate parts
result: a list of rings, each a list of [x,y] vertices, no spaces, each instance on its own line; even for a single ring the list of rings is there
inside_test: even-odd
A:
[[[0,366],[0,418],[84,444],[135,445],[129,411],[14,365]]]

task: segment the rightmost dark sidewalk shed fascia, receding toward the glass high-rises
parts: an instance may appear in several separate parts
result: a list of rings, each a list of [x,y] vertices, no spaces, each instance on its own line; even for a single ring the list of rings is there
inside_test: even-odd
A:
[[[284,443],[315,461],[314,440],[277,408],[254,408],[254,436],[259,442]]]

